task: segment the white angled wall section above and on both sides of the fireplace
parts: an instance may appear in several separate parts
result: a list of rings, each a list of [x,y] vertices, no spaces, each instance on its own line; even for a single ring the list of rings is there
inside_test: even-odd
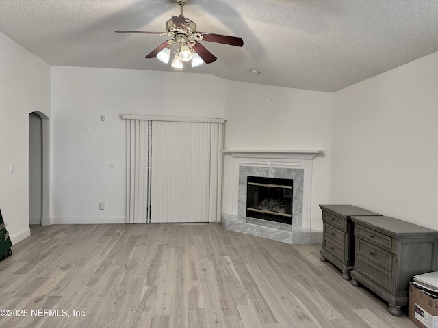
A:
[[[323,150],[313,161],[311,228],[322,230],[329,202],[333,94],[227,81],[225,148]],[[232,214],[233,161],[224,160],[222,212]]]

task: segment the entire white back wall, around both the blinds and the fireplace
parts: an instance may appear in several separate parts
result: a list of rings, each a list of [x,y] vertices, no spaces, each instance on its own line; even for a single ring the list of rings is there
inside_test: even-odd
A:
[[[53,223],[124,222],[123,113],[227,118],[226,148],[330,153],[330,93],[236,83],[207,74],[51,70]],[[251,132],[250,123],[261,131]],[[108,169],[110,162],[116,163],[116,170]],[[318,204],[329,199],[329,157],[316,159],[314,169],[312,227],[322,228]],[[231,200],[227,190],[224,194],[227,213]],[[105,210],[99,210],[99,202],[105,202]]]

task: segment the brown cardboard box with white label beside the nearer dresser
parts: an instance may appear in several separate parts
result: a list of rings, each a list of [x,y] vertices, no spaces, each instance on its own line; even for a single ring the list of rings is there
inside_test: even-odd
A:
[[[420,328],[438,328],[438,299],[409,285],[408,316]]]

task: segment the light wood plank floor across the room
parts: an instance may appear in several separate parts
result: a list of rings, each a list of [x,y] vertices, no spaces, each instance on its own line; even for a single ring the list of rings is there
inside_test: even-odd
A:
[[[416,327],[319,249],[214,223],[31,226],[0,262],[0,309],[27,316],[0,327]]]

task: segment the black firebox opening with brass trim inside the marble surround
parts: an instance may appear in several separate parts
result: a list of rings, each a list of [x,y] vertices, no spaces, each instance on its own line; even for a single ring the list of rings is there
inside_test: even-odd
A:
[[[248,176],[246,216],[292,224],[294,180]]]

